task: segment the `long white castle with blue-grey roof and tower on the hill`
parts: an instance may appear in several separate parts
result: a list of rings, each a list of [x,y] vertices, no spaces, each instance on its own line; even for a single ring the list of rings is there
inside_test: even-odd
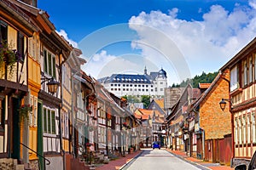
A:
[[[150,95],[163,96],[167,88],[166,71],[161,69],[158,72],[144,75],[113,74],[111,77],[104,77],[98,80],[104,88],[118,97],[124,95]]]

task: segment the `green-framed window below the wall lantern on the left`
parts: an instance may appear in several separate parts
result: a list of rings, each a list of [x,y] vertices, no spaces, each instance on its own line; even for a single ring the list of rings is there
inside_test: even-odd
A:
[[[55,134],[55,110],[44,107],[44,133]]]

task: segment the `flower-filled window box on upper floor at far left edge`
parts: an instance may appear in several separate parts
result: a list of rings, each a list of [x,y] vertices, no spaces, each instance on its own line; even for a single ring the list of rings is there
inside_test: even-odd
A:
[[[15,70],[16,53],[11,49],[11,44],[7,41],[0,42],[0,73],[1,77],[5,74],[5,71],[9,71],[9,76],[12,77]]]

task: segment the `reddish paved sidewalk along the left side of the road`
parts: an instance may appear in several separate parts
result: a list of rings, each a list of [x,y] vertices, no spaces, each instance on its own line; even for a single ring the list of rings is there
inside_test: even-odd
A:
[[[119,157],[117,160],[109,161],[108,164],[103,164],[101,167],[96,167],[96,170],[117,170],[124,166],[128,161],[131,161],[135,156],[139,155],[142,150],[137,150],[125,157]]]

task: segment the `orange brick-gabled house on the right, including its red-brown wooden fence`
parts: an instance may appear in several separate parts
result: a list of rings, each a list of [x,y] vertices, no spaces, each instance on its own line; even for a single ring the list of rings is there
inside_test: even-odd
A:
[[[229,72],[218,73],[211,86],[189,106],[190,156],[206,161],[230,163],[231,115],[219,107],[221,99],[229,98]],[[227,105],[229,107],[229,105]]]

